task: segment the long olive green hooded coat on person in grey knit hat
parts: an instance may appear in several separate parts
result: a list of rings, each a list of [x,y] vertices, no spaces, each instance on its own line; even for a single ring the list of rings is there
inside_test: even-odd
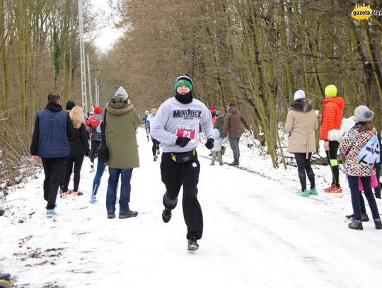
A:
[[[130,169],[139,167],[138,144],[135,128],[141,124],[134,105],[127,99],[115,96],[106,104],[106,146],[111,168]]]

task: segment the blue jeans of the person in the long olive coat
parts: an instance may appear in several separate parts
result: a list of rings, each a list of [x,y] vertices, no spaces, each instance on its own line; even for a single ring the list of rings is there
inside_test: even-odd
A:
[[[115,200],[117,200],[117,185],[121,175],[120,212],[129,211],[130,191],[132,186],[132,169],[118,169],[109,167],[108,192],[106,193],[106,209],[115,212]]]

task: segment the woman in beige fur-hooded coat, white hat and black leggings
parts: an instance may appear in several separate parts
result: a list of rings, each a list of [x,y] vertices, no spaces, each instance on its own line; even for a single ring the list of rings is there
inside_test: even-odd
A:
[[[302,197],[317,195],[314,172],[311,167],[311,156],[313,152],[316,152],[315,131],[317,128],[317,115],[311,100],[306,98],[304,91],[296,91],[288,111],[285,130],[290,134],[287,152],[294,154],[299,173],[301,190],[297,195]],[[306,190],[307,175],[311,184],[310,190]]]

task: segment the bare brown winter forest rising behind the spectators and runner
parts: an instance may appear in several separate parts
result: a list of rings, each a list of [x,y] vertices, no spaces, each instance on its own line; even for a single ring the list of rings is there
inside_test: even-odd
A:
[[[179,74],[195,98],[225,113],[236,103],[262,133],[274,168],[286,163],[279,129],[294,92],[306,91],[321,110],[325,86],[374,110],[382,128],[382,17],[355,20],[348,0],[108,0],[104,15],[83,1],[85,49],[100,105],[124,86],[137,113],[173,95]],[[382,10],[382,1],[362,2]],[[0,0],[0,184],[29,171],[35,115],[47,94],[81,105],[77,0]],[[107,20],[122,30],[103,52],[95,45]],[[91,110],[88,107],[88,110]]]

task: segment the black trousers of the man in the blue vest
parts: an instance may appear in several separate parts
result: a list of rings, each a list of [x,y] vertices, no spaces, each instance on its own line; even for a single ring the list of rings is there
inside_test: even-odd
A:
[[[47,209],[54,209],[56,204],[59,184],[65,171],[65,159],[66,157],[41,159],[45,173],[44,199],[47,201]]]

